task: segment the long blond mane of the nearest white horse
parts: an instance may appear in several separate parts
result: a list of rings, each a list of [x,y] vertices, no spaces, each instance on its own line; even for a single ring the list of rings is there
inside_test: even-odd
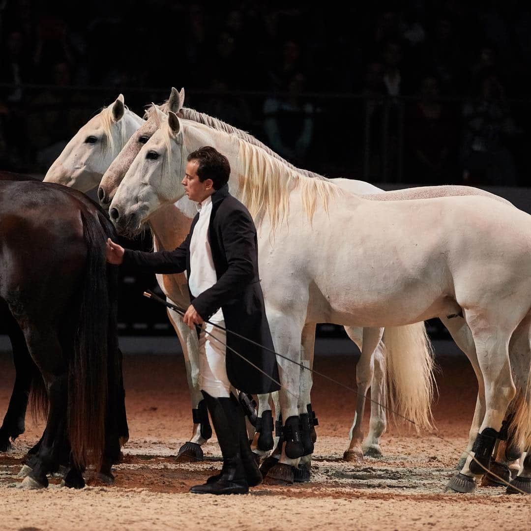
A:
[[[212,131],[208,125],[195,121],[184,122],[183,126],[203,130],[207,134]],[[301,191],[302,209],[310,222],[319,200],[328,212],[329,199],[345,193],[332,182],[307,177],[296,168],[288,167],[257,145],[226,131],[217,131],[226,135],[227,141],[238,152],[238,159],[242,164],[243,177],[239,182],[238,199],[249,209],[253,219],[267,214],[273,229],[289,213],[289,193],[292,190]],[[161,132],[170,153],[172,133],[167,123],[161,127]]]

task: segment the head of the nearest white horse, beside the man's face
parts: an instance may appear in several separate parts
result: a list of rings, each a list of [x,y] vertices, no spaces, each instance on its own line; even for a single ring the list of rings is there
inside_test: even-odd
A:
[[[135,234],[156,210],[183,197],[188,154],[212,145],[209,134],[196,132],[192,124],[170,112],[142,146],[110,203],[110,219],[119,233]]]

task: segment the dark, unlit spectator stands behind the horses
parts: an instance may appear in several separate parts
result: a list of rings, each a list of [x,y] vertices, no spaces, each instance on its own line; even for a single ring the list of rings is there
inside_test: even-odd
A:
[[[175,86],[330,177],[529,186],[528,1],[0,0],[0,40],[0,169],[42,175],[118,93],[142,114]],[[124,281],[124,331],[170,333]]]

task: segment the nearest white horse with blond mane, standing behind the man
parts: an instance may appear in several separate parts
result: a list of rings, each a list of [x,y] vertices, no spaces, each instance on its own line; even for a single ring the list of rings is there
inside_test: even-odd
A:
[[[531,271],[529,216],[478,196],[367,201],[289,170],[234,136],[170,113],[116,191],[109,212],[119,230],[138,229],[184,195],[186,156],[201,145],[225,153],[232,167],[229,188],[258,226],[265,303],[278,352],[298,363],[305,323],[379,328],[463,313],[476,347],[486,411],[475,459],[467,458],[450,486],[475,485],[475,476],[484,472],[476,460],[490,463],[516,393],[508,346],[531,309],[531,278],[523,274]],[[335,256],[336,262],[322,256]],[[276,274],[264,275],[267,270]],[[284,360],[279,364],[286,422],[300,413],[293,399],[300,375],[287,370]],[[528,391],[527,381],[522,387]],[[528,392],[525,398],[528,402]],[[429,406],[425,412],[427,424]],[[519,429],[527,434],[531,418],[523,420]],[[297,462],[289,457],[288,443],[273,477],[289,475],[287,469]]]

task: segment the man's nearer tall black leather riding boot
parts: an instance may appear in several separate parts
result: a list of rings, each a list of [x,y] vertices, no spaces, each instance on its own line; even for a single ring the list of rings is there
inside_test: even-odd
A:
[[[216,481],[195,485],[190,492],[194,494],[246,494],[249,492],[249,484],[247,484],[239,449],[239,422],[234,402],[230,398],[214,398],[204,391],[201,392],[207,402],[214,431],[218,437],[223,467]]]

